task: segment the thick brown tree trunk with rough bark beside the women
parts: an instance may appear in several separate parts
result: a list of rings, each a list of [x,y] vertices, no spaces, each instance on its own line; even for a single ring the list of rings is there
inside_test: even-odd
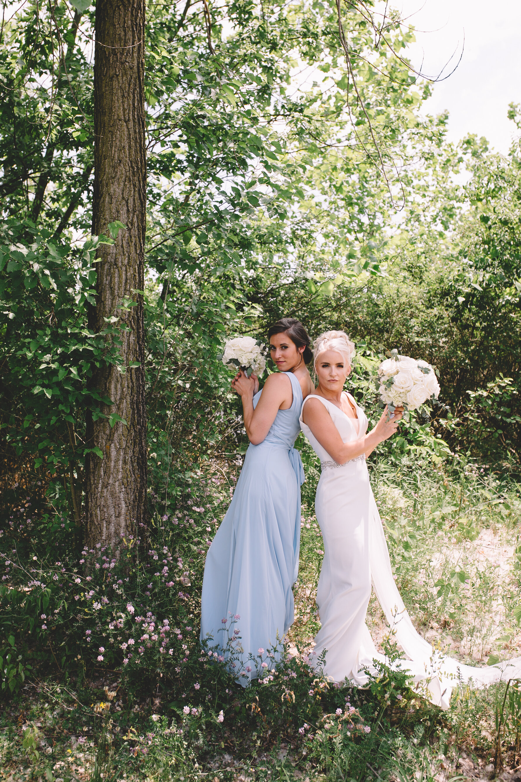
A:
[[[109,235],[108,225],[121,221],[116,244],[98,250],[96,307],[89,326],[105,327],[116,314],[128,331],[121,353],[127,372],[103,364],[95,369],[92,387],[112,400],[105,415],[127,421],[111,428],[107,418],[87,418],[87,447],[103,458],[87,455],[86,540],[113,549],[122,536],[146,525],[145,323],[145,2],[98,0],[95,21],[94,124],[95,181],[92,233]],[[137,306],[120,310],[123,297]],[[138,368],[129,368],[139,361]]]

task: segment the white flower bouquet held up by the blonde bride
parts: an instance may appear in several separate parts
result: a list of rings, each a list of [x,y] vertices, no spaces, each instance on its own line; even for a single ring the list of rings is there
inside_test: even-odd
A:
[[[432,366],[426,361],[398,356],[398,350],[391,350],[391,358],[380,364],[376,385],[380,400],[387,404],[391,414],[399,406],[417,410],[427,400],[437,399],[440,393]]]

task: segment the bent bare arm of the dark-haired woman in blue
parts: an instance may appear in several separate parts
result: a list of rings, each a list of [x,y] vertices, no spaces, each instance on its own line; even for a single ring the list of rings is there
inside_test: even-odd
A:
[[[255,381],[257,378],[247,378],[244,372],[232,381],[232,388],[237,391],[242,400],[244,414],[244,429],[250,443],[259,445],[275,421],[275,416],[284,404],[291,406],[293,390],[291,380],[282,373],[269,375],[263,388],[257,407],[253,407],[253,395],[255,393]],[[257,387],[259,382],[257,381]]]

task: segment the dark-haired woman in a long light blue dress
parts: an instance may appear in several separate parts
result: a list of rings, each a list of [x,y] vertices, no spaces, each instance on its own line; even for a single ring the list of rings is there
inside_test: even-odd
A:
[[[230,658],[244,687],[259,675],[259,656],[266,660],[272,647],[280,651],[294,619],[304,470],[293,446],[302,401],[314,390],[302,324],[283,318],[268,336],[280,371],[269,375],[261,391],[255,375],[247,378],[241,371],[232,382],[241,396],[250,445],[230,508],[206,555],[202,583],[201,640]],[[230,654],[228,634],[236,637],[235,653]],[[250,652],[255,661],[248,660]]]

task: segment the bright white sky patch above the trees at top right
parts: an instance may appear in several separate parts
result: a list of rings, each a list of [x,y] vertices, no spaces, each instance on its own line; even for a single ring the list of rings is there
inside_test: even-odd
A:
[[[521,103],[521,2],[519,0],[391,0],[416,27],[412,64],[435,76],[456,50],[462,62],[446,81],[434,84],[425,113],[450,113],[449,139],[466,133],[485,136],[508,152],[516,125],[506,117],[509,103]],[[425,30],[420,32],[420,30]],[[449,64],[447,73],[452,70]]]

